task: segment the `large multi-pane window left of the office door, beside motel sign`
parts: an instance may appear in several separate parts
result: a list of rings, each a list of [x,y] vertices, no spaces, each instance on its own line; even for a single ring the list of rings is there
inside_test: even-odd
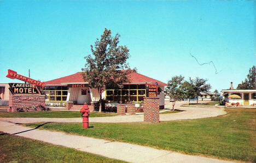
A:
[[[44,87],[46,101],[66,101],[68,94],[67,86],[46,86]]]

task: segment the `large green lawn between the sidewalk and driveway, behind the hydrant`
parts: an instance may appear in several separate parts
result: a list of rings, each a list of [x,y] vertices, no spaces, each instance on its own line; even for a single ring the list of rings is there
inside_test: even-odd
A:
[[[226,108],[220,117],[152,123],[48,123],[40,128],[187,154],[256,162],[256,109]],[[42,123],[27,124],[36,127]]]

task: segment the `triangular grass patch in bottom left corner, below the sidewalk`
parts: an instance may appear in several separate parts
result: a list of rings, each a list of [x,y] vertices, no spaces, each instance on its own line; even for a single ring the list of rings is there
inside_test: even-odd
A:
[[[0,132],[0,162],[124,162]]]

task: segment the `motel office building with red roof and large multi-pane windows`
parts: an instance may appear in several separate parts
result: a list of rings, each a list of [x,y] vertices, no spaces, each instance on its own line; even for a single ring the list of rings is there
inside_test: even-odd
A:
[[[158,84],[158,97],[160,98],[160,109],[164,108],[164,87],[166,83],[152,79],[139,73],[130,74],[131,83],[123,83],[121,88],[104,87],[102,99],[106,99],[109,105],[117,106],[120,101],[125,104],[131,102],[139,106],[146,97],[146,83]],[[83,80],[82,72],[61,77],[45,82],[44,93],[46,95],[46,106],[64,106],[67,110],[78,110],[79,105],[85,102],[94,105],[100,100],[98,88],[89,88],[88,82]],[[92,108],[90,107],[90,110]]]

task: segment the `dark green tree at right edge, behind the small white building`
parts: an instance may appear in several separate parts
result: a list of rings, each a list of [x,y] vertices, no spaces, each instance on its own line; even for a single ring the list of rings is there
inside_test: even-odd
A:
[[[256,67],[255,65],[249,69],[249,74],[247,75],[247,79],[242,81],[241,84],[238,84],[236,89],[256,89]]]

